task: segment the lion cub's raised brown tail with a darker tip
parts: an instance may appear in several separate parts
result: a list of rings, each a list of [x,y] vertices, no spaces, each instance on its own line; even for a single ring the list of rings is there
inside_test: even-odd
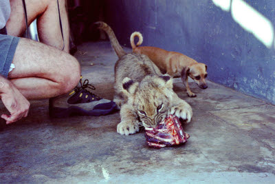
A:
[[[116,39],[115,33],[113,33],[113,30],[110,28],[110,26],[107,25],[107,23],[104,23],[102,21],[98,21],[94,24],[98,25],[98,29],[104,30],[107,33],[111,41],[113,50],[115,50],[115,53],[118,55],[118,58],[121,58],[122,56],[124,56],[126,52],[122,49],[120,43],[118,43],[118,39]]]

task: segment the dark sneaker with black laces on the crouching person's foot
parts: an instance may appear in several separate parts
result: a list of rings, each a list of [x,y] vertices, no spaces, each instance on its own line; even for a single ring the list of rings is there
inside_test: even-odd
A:
[[[81,76],[82,78],[82,76]],[[56,96],[50,99],[49,110],[51,117],[66,116],[102,116],[110,114],[116,109],[113,101],[102,99],[91,90],[96,88],[85,79],[69,94]]]

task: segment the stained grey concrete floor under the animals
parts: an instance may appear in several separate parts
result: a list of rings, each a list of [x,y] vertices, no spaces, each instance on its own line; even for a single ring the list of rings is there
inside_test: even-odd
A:
[[[96,94],[112,99],[109,41],[84,43],[76,57]],[[0,183],[274,183],[275,106],[210,81],[207,90],[190,86],[196,98],[175,80],[194,112],[184,125],[190,139],[160,150],[147,147],[144,132],[118,134],[118,112],[50,119],[48,101],[32,101],[26,119],[1,121]]]

